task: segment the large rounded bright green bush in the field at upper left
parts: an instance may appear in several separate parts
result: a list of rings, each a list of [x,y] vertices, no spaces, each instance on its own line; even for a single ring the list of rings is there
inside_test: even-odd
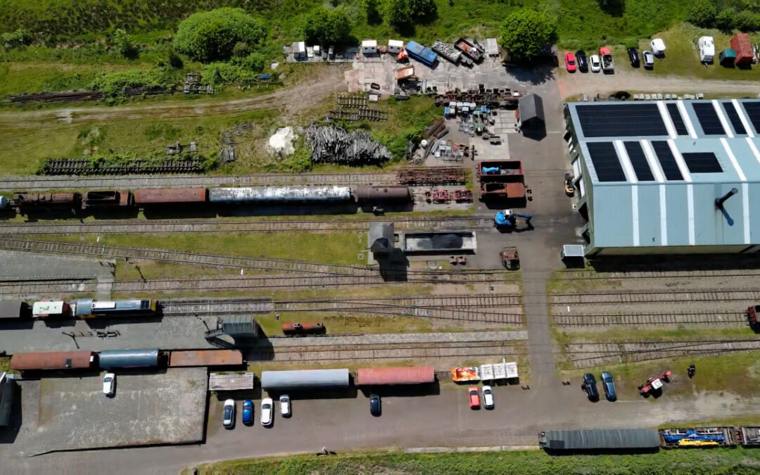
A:
[[[193,59],[204,62],[229,59],[237,43],[252,49],[267,36],[264,22],[242,8],[217,8],[190,15],[179,24],[174,47]]]

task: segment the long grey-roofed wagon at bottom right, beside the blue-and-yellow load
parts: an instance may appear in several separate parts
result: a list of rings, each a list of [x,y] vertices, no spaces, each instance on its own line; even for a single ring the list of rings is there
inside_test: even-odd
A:
[[[660,434],[652,429],[569,429],[541,432],[539,445],[546,450],[657,448]]]

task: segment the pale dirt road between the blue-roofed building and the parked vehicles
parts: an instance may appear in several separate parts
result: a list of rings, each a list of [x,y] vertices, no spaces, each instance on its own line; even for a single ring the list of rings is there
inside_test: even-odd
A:
[[[562,97],[589,97],[608,95],[619,90],[631,93],[732,93],[754,97],[760,93],[760,81],[719,81],[711,79],[684,78],[682,76],[657,76],[644,71],[618,68],[615,74],[575,73],[559,71],[559,92]]]

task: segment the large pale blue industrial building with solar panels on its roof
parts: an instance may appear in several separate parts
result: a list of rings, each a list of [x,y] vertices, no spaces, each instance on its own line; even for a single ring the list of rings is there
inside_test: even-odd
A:
[[[760,100],[568,103],[588,257],[760,252]]]

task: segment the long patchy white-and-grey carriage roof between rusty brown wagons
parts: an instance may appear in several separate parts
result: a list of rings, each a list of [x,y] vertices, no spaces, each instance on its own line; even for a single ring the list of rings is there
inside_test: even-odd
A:
[[[208,188],[211,203],[251,203],[258,201],[347,201],[348,186],[251,186],[247,188]]]

